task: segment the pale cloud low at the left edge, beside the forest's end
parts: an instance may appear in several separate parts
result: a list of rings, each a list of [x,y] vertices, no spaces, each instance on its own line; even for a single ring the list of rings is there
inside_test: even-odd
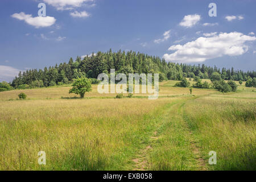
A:
[[[15,76],[18,76],[19,72],[19,69],[0,65],[0,81],[12,81]]]

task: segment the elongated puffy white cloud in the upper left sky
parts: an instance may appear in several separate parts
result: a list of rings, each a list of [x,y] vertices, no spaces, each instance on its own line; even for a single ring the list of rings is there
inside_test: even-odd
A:
[[[52,26],[56,22],[56,19],[51,16],[32,17],[32,15],[27,15],[23,12],[15,13],[15,14],[11,15],[11,17],[16,18],[18,20],[24,20],[24,22],[26,22],[27,24],[30,24],[31,26],[34,26],[36,28],[49,27],[49,26]]]

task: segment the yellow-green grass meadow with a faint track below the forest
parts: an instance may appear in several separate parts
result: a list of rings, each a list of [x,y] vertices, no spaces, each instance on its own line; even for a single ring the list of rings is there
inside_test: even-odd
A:
[[[0,92],[0,170],[255,170],[256,89],[190,95],[175,83],[160,82],[158,100],[97,85],[82,100],[68,86]]]

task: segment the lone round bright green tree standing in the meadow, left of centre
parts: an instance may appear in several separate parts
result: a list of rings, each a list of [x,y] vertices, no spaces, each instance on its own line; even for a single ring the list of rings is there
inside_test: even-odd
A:
[[[73,88],[69,90],[69,93],[79,94],[81,98],[84,98],[86,92],[92,91],[92,83],[86,77],[76,79],[72,86]]]

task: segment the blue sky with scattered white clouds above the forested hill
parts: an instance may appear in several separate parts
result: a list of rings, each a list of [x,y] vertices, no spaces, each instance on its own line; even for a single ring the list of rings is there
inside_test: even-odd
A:
[[[252,71],[255,18],[255,0],[1,0],[0,81],[110,48]]]

